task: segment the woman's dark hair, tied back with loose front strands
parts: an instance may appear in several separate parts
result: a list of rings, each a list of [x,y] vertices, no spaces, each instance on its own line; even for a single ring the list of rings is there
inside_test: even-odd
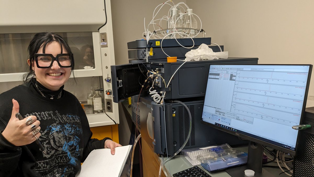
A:
[[[54,41],[60,43],[60,45],[61,45],[61,53],[62,53],[62,50],[63,50],[63,46],[68,51],[69,54],[72,53],[68,43],[60,35],[58,35],[56,33],[52,33],[52,32],[39,32],[39,33],[35,34],[33,39],[30,41],[30,45],[28,46],[29,59],[31,61],[35,60],[34,56],[39,51],[41,46],[43,46],[42,53],[44,54],[45,53],[45,49],[46,49],[46,45],[48,43],[51,43],[51,42],[54,42]],[[29,71],[26,72],[23,75],[24,83],[27,82],[28,80],[30,80],[31,75],[33,74],[32,62],[30,62],[30,67],[29,67],[28,70]],[[73,60],[73,66],[71,67],[71,73],[72,74],[73,74],[73,70],[74,70],[74,60]],[[76,82],[74,74],[73,74],[73,79]]]

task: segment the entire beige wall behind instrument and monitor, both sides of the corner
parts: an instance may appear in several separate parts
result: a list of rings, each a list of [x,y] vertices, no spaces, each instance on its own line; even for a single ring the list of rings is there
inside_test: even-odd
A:
[[[147,24],[155,7],[163,2],[112,1],[116,64],[128,63],[127,42],[142,37],[144,17]],[[212,37],[212,42],[224,45],[230,57],[258,57],[260,64],[314,64],[314,1],[184,2],[201,18],[206,36]],[[314,95],[311,88],[314,88],[313,75],[309,95]]]

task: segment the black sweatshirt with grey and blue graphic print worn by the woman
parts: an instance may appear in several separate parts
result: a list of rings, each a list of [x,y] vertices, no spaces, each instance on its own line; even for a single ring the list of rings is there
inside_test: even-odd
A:
[[[61,98],[57,99],[60,92]],[[48,94],[55,95],[54,99]],[[24,118],[34,115],[40,120],[38,140],[47,154],[35,142],[14,146],[0,134],[0,176],[75,176],[89,152],[104,148],[109,139],[91,139],[87,117],[73,94],[63,86],[58,91],[48,90],[35,79],[0,94],[1,133],[11,117],[12,99],[19,102]]]

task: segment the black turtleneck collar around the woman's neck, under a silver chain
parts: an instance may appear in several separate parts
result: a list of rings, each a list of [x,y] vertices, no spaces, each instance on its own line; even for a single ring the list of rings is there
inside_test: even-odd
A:
[[[32,86],[33,89],[35,89],[35,91],[41,95],[41,93],[44,94],[44,96],[48,99],[50,99],[51,97],[53,99],[57,99],[58,98],[58,95],[60,94],[61,92],[61,97],[62,97],[62,94],[63,94],[63,88],[64,88],[64,85],[61,86],[61,88],[57,91],[52,91],[52,90],[49,90],[48,88],[46,88],[45,86],[43,86],[41,83],[39,83],[36,78],[31,78],[30,79],[30,85]],[[37,87],[36,87],[37,85]],[[38,89],[37,89],[38,88]],[[53,96],[51,96],[53,95]]]

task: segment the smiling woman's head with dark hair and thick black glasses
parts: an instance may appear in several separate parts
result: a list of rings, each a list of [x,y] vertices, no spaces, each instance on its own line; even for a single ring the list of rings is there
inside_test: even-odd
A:
[[[27,63],[30,71],[24,76],[24,82],[33,74],[36,81],[44,87],[52,91],[59,90],[68,81],[74,68],[73,54],[68,43],[54,33],[37,33],[28,50],[30,59]],[[64,57],[68,57],[68,62],[64,62]]]

